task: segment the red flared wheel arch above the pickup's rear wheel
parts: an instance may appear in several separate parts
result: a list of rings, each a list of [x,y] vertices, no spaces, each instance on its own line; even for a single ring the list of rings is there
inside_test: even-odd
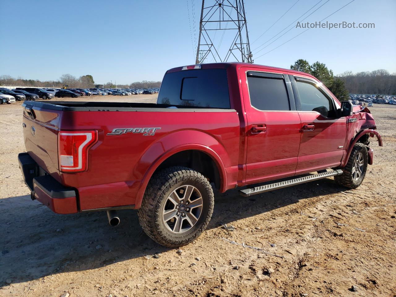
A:
[[[176,131],[150,145],[137,162],[134,175],[141,177],[141,183],[137,191],[135,208],[140,208],[148,181],[158,166],[173,154],[183,150],[200,150],[208,154],[219,169],[221,191],[225,191],[227,185],[225,168],[231,165],[225,147],[213,136],[202,131]]]

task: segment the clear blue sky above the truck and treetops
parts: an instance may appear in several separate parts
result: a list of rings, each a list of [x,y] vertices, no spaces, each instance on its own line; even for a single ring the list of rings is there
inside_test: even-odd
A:
[[[296,1],[245,0],[250,41]],[[251,44],[251,49],[284,29],[318,1],[300,0]],[[320,21],[348,2],[330,0],[305,21]],[[199,0],[0,0],[0,75],[57,80],[65,73],[77,77],[91,74],[101,84],[110,80],[118,84],[162,80],[167,69],[195,63],[187,3],[191,22],[194,4],[195,23],[191,25],[198,30],[202,3]],[[396,72],[395,0],[355,0],[328,21],[375,23],[375,29],[310,29],[256,58],[304,30],[293,28],[259,54],[253,51],[255,63],[289,68],[302,58],[310,63],[326,63],[335,74],[375,69]],[[192,32],[194,39],[194,27]]]

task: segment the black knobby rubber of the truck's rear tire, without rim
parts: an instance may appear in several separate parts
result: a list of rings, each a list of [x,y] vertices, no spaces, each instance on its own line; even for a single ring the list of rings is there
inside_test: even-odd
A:
[[[182,185],[193,185],[202,196],[202,212],[196,224],[183,233],[173,233],[162,219],[163,204],[169,194]],[[154,174],[148,182],[141,208],[139,223],[155,242],[167,247],[184,246],[195,240],[207,227],[214,206],[213,189],[199,172],[182,166],[166,168]]]

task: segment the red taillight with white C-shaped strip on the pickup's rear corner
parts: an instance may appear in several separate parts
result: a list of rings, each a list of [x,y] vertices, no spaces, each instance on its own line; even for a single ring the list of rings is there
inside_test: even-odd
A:
[[[59,131],[58,156],[62,172],[80,172],[88,168],[88,150],[97,141],[97,131]]]

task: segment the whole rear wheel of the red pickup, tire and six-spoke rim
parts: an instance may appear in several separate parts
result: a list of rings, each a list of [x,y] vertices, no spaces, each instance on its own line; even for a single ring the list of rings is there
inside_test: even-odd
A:
[[[150,179],[138,211],[139,223],[159,244],[184,246],[205,230],[213,206],[212,187],[201,173],[170,167]]]

